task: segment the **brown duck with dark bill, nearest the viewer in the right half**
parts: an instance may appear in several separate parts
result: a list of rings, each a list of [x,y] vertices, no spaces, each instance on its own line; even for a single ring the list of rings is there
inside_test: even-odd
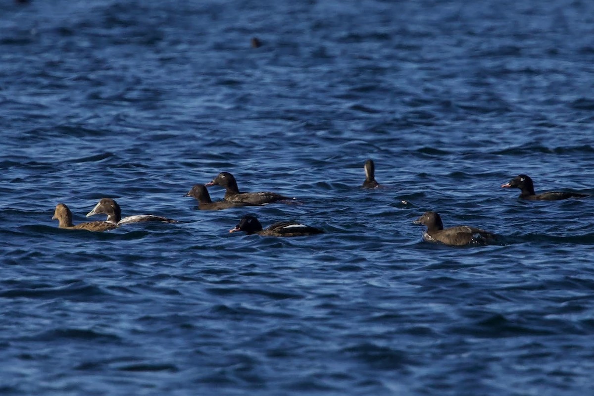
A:
[[[496,239],[495,234],[485,230],[469,227],[455,226],[444,229],[444,224],[437,212],[427,211],[413,224],[422,224],[427,227],[423,239],[429,242],[441,242],[444,245],[464,246],[470,243],[486,243]]]

